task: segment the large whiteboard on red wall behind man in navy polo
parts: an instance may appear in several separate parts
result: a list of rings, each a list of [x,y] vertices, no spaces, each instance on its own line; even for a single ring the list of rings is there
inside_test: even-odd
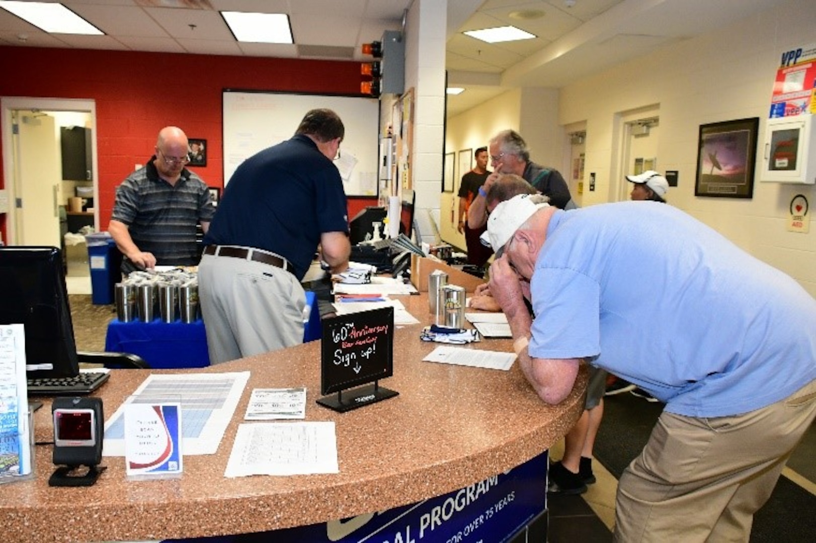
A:
[[[230,90],[224,91],[222,97],[224,186],[247,158],[295,135],[310,109],[329,108],[345,126],[335,166],[340,170],[346,195],[377,196],[379,100]]]

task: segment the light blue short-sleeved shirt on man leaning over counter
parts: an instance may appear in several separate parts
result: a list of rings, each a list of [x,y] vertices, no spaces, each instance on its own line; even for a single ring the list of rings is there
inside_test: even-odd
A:
[[[530,355],[592,359],[670,413],[747,413],[816,379],[816,300],[670,205],[556,211],[530,288]]]

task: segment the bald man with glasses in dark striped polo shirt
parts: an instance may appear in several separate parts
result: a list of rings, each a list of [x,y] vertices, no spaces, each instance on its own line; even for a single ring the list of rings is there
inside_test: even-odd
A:
[[[184,167],[188,162],[187,135],[166,126],[156,154],[116,189],[108,231],[125,256],[123,273],[198,263],[196,226],[207,231],[215,206],[206,183]]]

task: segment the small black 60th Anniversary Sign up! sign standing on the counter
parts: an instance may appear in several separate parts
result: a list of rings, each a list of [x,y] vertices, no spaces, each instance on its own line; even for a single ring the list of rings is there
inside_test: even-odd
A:
[[[336,316],[322,324],[320,391],[324,395],[337,392],[338,396],[317,400],[318,404],[347,411],[397,395],[376,384],[393,375],[393,307]],[[351,397],[340,394],[370,382],[375,385],[354,391]]]

